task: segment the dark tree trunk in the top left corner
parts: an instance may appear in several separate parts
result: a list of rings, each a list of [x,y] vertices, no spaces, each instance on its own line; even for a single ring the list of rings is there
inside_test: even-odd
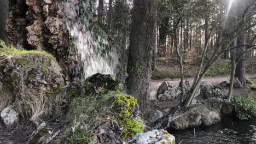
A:
[[[8,43],[8,37],[5,34],[5,21],[9,15],[9,2],[7,0],[0,0],[0,39]]]

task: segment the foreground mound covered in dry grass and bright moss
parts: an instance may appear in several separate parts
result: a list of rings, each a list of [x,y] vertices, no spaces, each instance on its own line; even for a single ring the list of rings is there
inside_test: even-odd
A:
[[[74,98],[66,117],[70,122],[67,128],[74,128],[67,135],[69,143],[89,143],[92,139],[96,143],[122,143],[143,133],[137,100],[121,92]]]

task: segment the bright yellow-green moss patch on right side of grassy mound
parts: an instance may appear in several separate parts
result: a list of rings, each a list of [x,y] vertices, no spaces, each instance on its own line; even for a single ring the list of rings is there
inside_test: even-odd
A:
[[[137,133],[143,133],[142,124],[135,119],[131,119],[131,116],[135,114],[135,106],[137,100],[130,95],[116,94],[115,95],[115,109],[119,113],[119,123],[124,127],[122,139],[126,137],[135,136]]]

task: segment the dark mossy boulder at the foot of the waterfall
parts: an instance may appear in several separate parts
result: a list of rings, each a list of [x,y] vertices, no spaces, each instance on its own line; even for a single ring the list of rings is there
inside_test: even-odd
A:
[[[106,94],[109,91],[119,91],[120,85],[114,77],[104,74],[94,74],[85,80],[85,94]]]

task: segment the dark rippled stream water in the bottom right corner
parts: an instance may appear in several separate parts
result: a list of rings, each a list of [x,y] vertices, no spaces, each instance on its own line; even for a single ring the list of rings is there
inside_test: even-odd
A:
[[[176,143],[227,143],[227,144],[256,144],[256,119],[249,121],[238,121],[236,118],[223,117],[222,122],[210,127],[195,128],[196,141],[194,138],[194,128],[188,130],[173,131]]]

